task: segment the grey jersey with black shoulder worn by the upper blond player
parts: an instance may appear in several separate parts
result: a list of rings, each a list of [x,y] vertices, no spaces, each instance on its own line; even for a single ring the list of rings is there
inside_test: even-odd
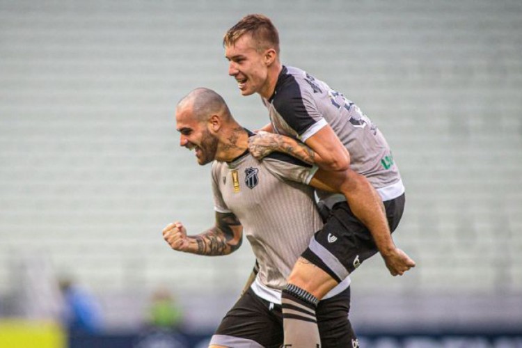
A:
[[[262,100],[269,109],[274,132],[304,142],[329,124],[348,149],[351,168],[367,177],[383,200],[404,193],[399,169],[383,134],[356,104],[323,81],[299,68],[283,66],[274,95]]]

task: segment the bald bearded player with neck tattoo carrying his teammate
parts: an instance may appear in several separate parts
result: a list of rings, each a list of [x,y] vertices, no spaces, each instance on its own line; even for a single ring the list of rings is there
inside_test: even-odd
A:
[[[281,290],[299,255],[323,226],[313,187],[343,192],[354,182],[341,172],[326,173],[280,152],[255,159],[248,152],[253,133],[237,123],[213,90],[197,88],[182,98],[175,118],[180,145],[194,150],[198,164],[212,162],[216,221],[198,235],[187,235],[184,225],[175,221],[163,230],[164,239],[175,251],[214,256],[236,251],[245,234],[258,263],[255,279],[223,318],[210,347],[279,348]],[[316,348],[312,342],[319,335],[321,347],[357,347],[348,319],[349,285],[347,277],[317,308],[310,308],[306,294],[286,308],[310,320],[293,347]]]

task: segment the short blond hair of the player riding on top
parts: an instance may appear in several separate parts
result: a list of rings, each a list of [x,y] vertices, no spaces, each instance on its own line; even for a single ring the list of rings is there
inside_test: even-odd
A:
[[[264,15],[246,15],[223,36],[223,46],[234,45],[239,38],[250,34],[257,43],[258,52],[274,48],[279,54],[279,33],[269,17]]]

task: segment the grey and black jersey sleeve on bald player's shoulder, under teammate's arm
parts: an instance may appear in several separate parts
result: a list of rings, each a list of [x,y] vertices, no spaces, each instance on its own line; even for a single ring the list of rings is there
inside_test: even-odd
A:
[[[276,154],[276,156],[273,156]],[[291,180],[309,184],[319,167],[299,161],[294,157],[287,156],[280,152],[273,152],[269,157],[265,157],[262,163],[272,175],[280,180]]]

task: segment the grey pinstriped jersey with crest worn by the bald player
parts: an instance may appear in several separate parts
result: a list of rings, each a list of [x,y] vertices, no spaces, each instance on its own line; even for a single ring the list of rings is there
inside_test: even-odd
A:
[[[215,209],[232,212],[242,223],[259,263],[254,290],[268,301],[280,301],[274,299],[280,294],[270,290],[286,285],[297,258],[323,226],[308,186],[316,170],[278,152],[262,161],[245,152],[234,161],[212,164]],[[349,279],[343,283],[342,290]]]

